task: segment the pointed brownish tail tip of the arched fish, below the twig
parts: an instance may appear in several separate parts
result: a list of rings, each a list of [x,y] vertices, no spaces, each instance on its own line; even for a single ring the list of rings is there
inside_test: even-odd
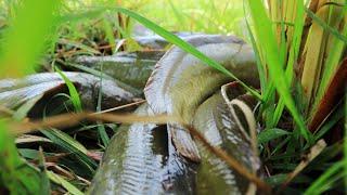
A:
[[[191,134],[180,125],[168,123],[167,128],[176,151],[191,161],[200,162],[201,156]]]

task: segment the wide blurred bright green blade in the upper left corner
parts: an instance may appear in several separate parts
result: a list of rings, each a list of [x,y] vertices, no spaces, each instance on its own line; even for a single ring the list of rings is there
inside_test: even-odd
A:
[[[55,30],[61,2],[30,0],[21,3],[0,46],[0,76],[18,76],[34,72],[49,35]]]

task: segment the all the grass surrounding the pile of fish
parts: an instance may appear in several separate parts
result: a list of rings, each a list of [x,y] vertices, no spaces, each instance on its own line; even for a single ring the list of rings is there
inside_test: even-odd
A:
[[[257,55],[261,89],[241,83],[261,103],[258,122],[262,131],[258,142],[267,181],[274,188],[305,194],[340,193],[347,186],[346,1],[245,0],[230,3],[224,0],[192,0],[183,3],[147,0],[141,3],[118,1],[117,4],[105,1],[100,4],[94,1],[34,0],[2,2],[1,5],[5,11],[0,15],[2,78],[22,76],[35,69],[54,70],[54,66],[81,54],[110,55],[119,49],[138,50],[140,47],[130,40],[132,27],[140,23],[237,80],[232,73],[170,31],[247,37]],[[170,12],[157,9],[162,6]],[[42,12],[37,12],[37,8]],[[237,25],[242,28],[236,28]],[[129,41],[124,48],[117,48],[115,40],[121,38]],[[69,101],[75,110],[81,113],[78,92],[59,69],[57,73],[68,86]],[[102,81],[101,74],[98,76]],[[101,112],[101,100],[100,93],[97,112]],[[18,110],[14,118],[24,120],[28,110],[25,107]],[[4,186],[0,184],[0,192],[5,188],[37,193],[41,187],[38,184],[41,184],[44,192],[40,193],[48,193],[50,190],[47,188],[59,191],[55,185],[60,185],[72,194],[80,194],[97,169],[99,152],[110,141],[110,129],[116,129],[113,123],[81,122],[80,128],[68,129],[67,132],[42,130],[40,139],[30,136],[34,146],[17,145],[22,151],[22,156],[18,156],[13,139],[7,134],[10,129],[5,121],[1,119],[0,123],[3,132],[0,133],[3,141],[0,142],[0,153],[11,155],[7,160],[0,160],[0,169],[10,170],[11,174],[1,174],[0,181]],[[87,132],[87,135],[81,136],[79,132]],[[59,148],[49,147],[50,152],[37,148],[43,136]],[[327,145],[318,148],[321,139]],[[97,144],[89,146],[90,142]],[[53,164],[50,164],[49,171],[38,169],[53,158],[57,160],[49,161]],[[37,184],[30,186],[26,183],[26,174],[18,173],[20,170],[13,166],[26,167],[23,171],[35,174],[33,181]],[[54,184],[49,185],[48,179]],[[16,185],[21,187],[14,187]]]

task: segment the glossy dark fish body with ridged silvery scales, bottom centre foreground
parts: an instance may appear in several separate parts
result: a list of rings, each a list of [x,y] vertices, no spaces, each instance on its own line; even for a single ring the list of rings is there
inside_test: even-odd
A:
[[[136,114],[150,115],[151,110],[144,104]],[[192,194],[194,167],[169,153],[170,147],[165,126],[123,126],[113,136],[89,193]]]

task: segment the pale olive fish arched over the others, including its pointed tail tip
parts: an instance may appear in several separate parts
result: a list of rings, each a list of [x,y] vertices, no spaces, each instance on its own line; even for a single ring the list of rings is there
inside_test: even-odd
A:
[[[254,52],[243,40],[233,36],[204,35],[188,42],[239,79],[258,86]],[[156,64],[144,94],[155,114],[181,116],[184,122],[191,123],[197,106],[229,81],[232,81],[230,77],[172,47]],[[200,161],[196,145],[182,127],[169,123],[168,131],[179,154]]]

